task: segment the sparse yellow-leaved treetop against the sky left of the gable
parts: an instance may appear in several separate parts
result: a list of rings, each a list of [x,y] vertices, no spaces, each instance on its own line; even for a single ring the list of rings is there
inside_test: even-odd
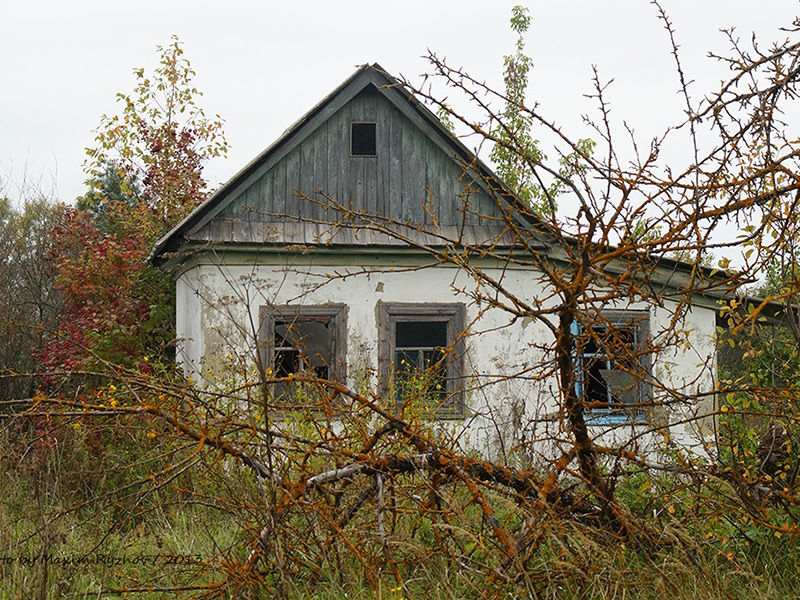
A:
[[[228,150],[222,119],[207,117],[198,104],[202,93],[192,83],[195,71],[178,38],[173,36],[157,51],[158,68],[151,75],[135,69],[133,93],[117,94],[121,112],[101,117],[85,163],[92,203],[115,200],[91,193],[102,190],[104,183],[112,183],[124,198],[141,191],[157,217],[151,236],[163,233],[202,202],[207,191],[203,167]],[[109,180],[110,167],[118,171],[118,182]]]

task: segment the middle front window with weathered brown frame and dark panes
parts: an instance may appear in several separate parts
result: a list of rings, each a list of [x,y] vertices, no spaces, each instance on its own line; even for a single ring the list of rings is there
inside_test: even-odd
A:
[[[379,375],[398,410],[421,403],[440,418],[463,415],[463,304],[380,303]]]

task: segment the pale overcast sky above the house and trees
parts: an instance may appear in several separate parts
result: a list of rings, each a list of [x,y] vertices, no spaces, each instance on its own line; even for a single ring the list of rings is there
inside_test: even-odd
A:
[[[414,79],[427,49],[502,85],[512,50],[511,6],[496,0],[436,2],[220,2],[194,0],[0,0],[0,186],[14,197],[24,178],[61,200],[83,192],[83,149],[100,115],[130,92],[135,67],[150,69],[172,34],[184,43],[207,112],[225,120],[227,159],[209,164],[227,180],[365,62]],[[680,118],[666,34],[645,0],[531,0],[529,99],[574,136],[594,109],[591,66],[614,80],[613,114],[642,139]],[[719,29],[763,40],[800,14],[789,0],[663,0],[696,95],[725,73],[705,58],[724,52]],[[469,142],[468,142],[469,144]]]

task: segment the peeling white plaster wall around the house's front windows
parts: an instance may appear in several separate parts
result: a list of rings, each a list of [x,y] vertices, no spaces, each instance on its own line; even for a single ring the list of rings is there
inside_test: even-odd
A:
[[[545,298],[539,274],[532,270],[483,269],[502,280],[507,289],[523,299]],[[542,323],[530,319],[514,320],[500,309],[478,305],[471,294],[475,282],[452,267],[426,267],[418,270],[375,271],[356,274],[358,267],[326,264],[299,265],[199,265],[177,280],[178,359],[187,375],[204,384],[211,383],[226,357],[254,360],[259,308],[266,304],[344,303],[348,310],[347,360],[351,385],[369,377],[373,389],[377,382],[378,323],[376,305],[384,302],[464,302],[466,322],[472,335],[466,341],[466,372],[471,374],[467,394],[468,416],[443,424],[460,433],[465,446],[498,454],[510,451],[518,442],[533,442],[534,454],[549,455],[554,444],[567,443],[564,424],[556,416],[557,385],[553,373],[542,377],[543,368],[552,368],[538,348],[552,342],[552,334]],[[340,277],[329,278],[338,273]],[[346,277],[342,277],[347,275]],[[607,306],[617,309],[648,309],[646,304]],[[672,341],[653,361],[656,379],[666,387],[686,393],[713,389],[714,311],[695,307],[680,322],[673,323],[675,305],[649,310],[650,332],[654,341]],[[544,367],[543,367],[544,365]],[[509,375],[515,375],[508,378]],[[661,394],[657,389],[656,394]],[[661,394],[659,398],[665,396]],[[672,397],[671,421],[696,414],[695,403],[685,405]],[[631,444],[632,449],[648,451],[667,439],[643,431],[647,425],[623,424],[594,426],[594,435],[603,444]],[[682,424],[664,430],[671,440],[702,451],[697,431]],[[631,441],[633,440],[633,441]]]

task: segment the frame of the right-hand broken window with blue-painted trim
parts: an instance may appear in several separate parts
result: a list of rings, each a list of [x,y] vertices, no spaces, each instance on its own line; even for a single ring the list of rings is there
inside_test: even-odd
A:
[[[576,337],[576,350],[575,350],[575,393],[581,398],[586,407],[586,421],[587,425],[611,425],[623,424],[631,422],[640,422],[645,419],[647,413],[644,405],[650,399],[650,386],[647,380],[650,376],[650,353],[646,352],[647,340],[650,331],[649,313],[644,310],[607,310],[601,313],[596,322],[591,323],[591,327],[595,330],[611,329],[628,330],[633,333],[633,348],[628,356],[623,357],[624,361],[630,361],[630,364],[621,365],[614,368],[616,361],[608,354],[608,342],[603,342],[603,336],[595,334],[587,336],[584,334],[582,327],[579,323],[573,322],[572,334]],[[586,353],[584,349],[589,340],[597,345],[598,352]],[[605,348],[603,348],[605,346]],[[606,394],[608,398],[608,405],[605,407],[592,407],[589,398],[585,397],[586,379],[588,377],[588,363],[594,360],[595,357],[605,357],[606,371],[612,372],[620,370],[627,373],[633,379],[633,385],[636,386],[634,394],[635,401],[633,402],[620,402],[615,401],[612,395],[613,390],[609,389],[608,380],[606,379]]]

